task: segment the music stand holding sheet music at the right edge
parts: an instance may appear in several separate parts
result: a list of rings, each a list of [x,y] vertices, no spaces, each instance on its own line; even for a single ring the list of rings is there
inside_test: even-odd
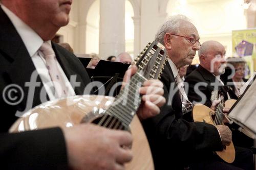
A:
[[[241,132],[254,139],[253,156],[254,168],[256,169],[256,105],[252,104],[252,102],[256,100],[256,81],[254,81],[255,77],[256,75],[254,75],[253,79],[249,79],[250,82],[248,83],[242,96],[231,107],[228,117],[234,123],[240,126],[239,130]]]

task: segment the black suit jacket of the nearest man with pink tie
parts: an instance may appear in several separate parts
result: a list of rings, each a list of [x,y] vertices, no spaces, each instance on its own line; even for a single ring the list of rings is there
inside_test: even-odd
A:
[[[5,94],[4,98],[3,95],[0,97],[2,107],[0,159],[2,168],[65,169],[68,162],[66,143],[61,129],[51,128],[17,134],[7,133],[17,119],[16,111],[24,111],[28,103],[34,107],[44,102],[39,99],[40,90],[44,87],[40,77],[37,76],[34,92],[31,93],[31,98],[28,98],[29,87],[26,86],[25,82],[30,82],[33,71],[36,71],[35,66],[24,42],[2,8],[0,8],[0,26],[0,91],[1,94]],[[52,46],[68,79],[71,75],[77,76],[76,82],[80,82],[80,86],[74,90],[76,94],[82,94],[84,87],[90,82],[86,69],[73,54],[55,43],[52,43]],[[10,92],[9,94],[13,98],[22,99],[18,104],[10,105],[6,102],[8,98],[7,87],[13,84],[22,89],[24,96],[21,92]]]

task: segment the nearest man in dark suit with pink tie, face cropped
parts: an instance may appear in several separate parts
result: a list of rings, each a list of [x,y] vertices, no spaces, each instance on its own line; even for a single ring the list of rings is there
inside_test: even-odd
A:
[[[81,124],[67,129],[7,133],[23,111],[47,100],[83,94],[90,80],[77,57],[50,41],[60,27],[68,24],[72,1],[2,0],[1,3],[1,167],[124,169],[124,163],[132,159],[131,150],[122,147],[132,143],[128,132]],[[136,67],[131,70],[134,74]],[[75,81],[69,82],[72,77]],[[152,86],[158,92],[148,93],[148,87]],[[164,102],[161,86],[161,82],[154,80],[142,87],[141,94],[149,100],[137,112],[140,118],[160,112]],[[160,97],[161,102],[154,104],[148,95]]]

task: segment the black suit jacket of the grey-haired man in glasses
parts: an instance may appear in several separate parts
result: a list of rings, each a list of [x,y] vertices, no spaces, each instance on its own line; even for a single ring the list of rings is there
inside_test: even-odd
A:
[[[193,161],[196,153],[221,150],[216,127],[199,122],[189,123],[182,118],[181,100],[179,94],[173,91],[177,85],[168,63],[161,81],[167,104],[161,108],[159,115],[142,122],[151,145],[155,168],[184,168]]]

